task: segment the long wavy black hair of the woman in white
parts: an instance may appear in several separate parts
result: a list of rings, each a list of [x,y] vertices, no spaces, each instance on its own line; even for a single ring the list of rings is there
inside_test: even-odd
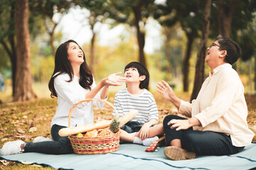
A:
[[[68,60],[68,45],[70,44],[70,42],[75,42],[75,41],[74,40],[68,40],[68,41],[64,42],[63,44],[61,44],[58,47],[58,49],[56,50],[55,68],[54,68],[54,71],[53,71],[53,75],[52,75],[52,77],[50,77],[50,81],[49,81],[49,84],[48,84],[48,87],[49,87],[50,92],[51,92],[50,96],[52,98],[54,98],[54,96],[57,97],[57,93],[56,93],[55,88],[54,88],[54,79],[55,79],[55,77],[58,77],[58,75],[60,75],[60,74],[66,73],[70,77],[70,80],[68,82],[73,80],[73,75],[74,75],[73,68],[70,64],[70,61]],[[75,43],[78,45],[77,42],[75,42]],[[91,90],[90,86],[92,85],[92,82],[93,82],[92,72],[90,71],[90,69],[89,69],[89,67],[86,63],[85,53],[83,51],[82,51],[82,54],[83,54],[83,60],[85,62],[83,62],[80,65],[79,84],[83,88]]]

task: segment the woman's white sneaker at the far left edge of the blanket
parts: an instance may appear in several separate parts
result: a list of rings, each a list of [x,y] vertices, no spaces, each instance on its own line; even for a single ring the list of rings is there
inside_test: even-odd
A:
[[[10,154],[20,154],[23,152],[21,149],[21,144],[24,144],[22,140],[16,140],[13,142],[7,142],[1,149],[1,155],[6,156]]]

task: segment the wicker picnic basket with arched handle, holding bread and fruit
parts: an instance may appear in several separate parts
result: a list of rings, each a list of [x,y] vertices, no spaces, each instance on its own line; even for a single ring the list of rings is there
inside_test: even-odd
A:
[[[68,127],[70,127],[70,118],[75,106],[78,106],[78,104],[86,101],[102,101],[107,105],[111,106],[114,109],[114,113],[117,115],[117,117],[119,117],[112,103],[108,101],[103,101],[98,98],[88,98],[78,103],[75,103],[70,109],[70,113],[68,115]],[[116,133],[111,133],[110,135],[105,136],[77,137],[76,135],[69,135],[68,138],[70,139],[75,154],[107,154],[117,151],[119,147],[119,136],[120,130]]]

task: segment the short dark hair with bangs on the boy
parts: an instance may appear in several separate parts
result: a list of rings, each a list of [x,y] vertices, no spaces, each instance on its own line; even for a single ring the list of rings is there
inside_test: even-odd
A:
[[[139,76],[146,76],[146,78],[139,84],[139,89],[149,89],[149,71],[146,69],[146,67],[139,62],[130,62],[124,68],[124,72],[129,68],[136,68],[139,72]]]

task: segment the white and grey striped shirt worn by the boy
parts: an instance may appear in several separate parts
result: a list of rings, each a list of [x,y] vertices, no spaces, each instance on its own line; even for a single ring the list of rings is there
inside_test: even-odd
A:
[[[139,95],[129,94],[127,89],[122,89],[114,96],[114,108],[116,108],[120,117],[131,110],[137,110],[138,115],[130,121],[147,123],[151,119],[159,120],[154,96],[146,89]]]

